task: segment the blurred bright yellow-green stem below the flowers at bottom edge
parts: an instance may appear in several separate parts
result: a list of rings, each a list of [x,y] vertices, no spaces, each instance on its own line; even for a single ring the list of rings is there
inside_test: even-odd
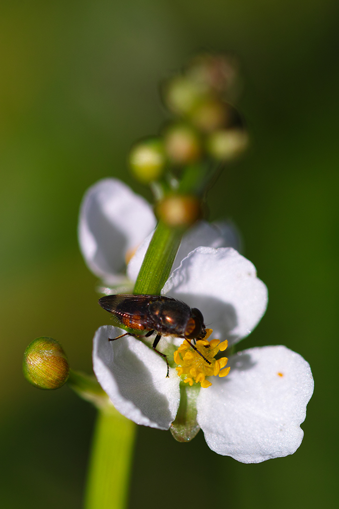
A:
[[[135,424],[116,410],[99,411],[90,458],[85,509],[125,509]]]

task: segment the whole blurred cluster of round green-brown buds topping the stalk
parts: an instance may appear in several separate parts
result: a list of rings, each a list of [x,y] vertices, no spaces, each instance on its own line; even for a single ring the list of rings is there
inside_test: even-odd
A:
[[[202,215],[199,201],[193,203],[197,193],[180,189],[184,169],[231,161],[248,146],[241,117],[230,102],[237,89],[235,63],[217,54],[199,55],[164,83],[163,101],[174,118],[160,136],[133,146],[129,164],[145,184],[166,182],[156,213],[169,225],[189,227]]]

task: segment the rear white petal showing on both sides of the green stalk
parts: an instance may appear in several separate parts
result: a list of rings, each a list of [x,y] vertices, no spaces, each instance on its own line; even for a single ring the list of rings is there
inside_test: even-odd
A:
[[[132,281],[135,281],[138,277],[152,235],[153,232],[140,244],[135,256],[127,267],[127,274]],[[239,233],[231,222],[208,223],[207,221],[199,221],[183,236],[172,272],[179,267],[181,260],[187,257],[196,247],[234,247],[238,249],[240,243]]]

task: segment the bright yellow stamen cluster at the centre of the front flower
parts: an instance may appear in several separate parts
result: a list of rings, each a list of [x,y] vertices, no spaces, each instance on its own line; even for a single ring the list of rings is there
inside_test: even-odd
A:
[[[192,344],[185,340],[174,352],[174,361],[178,364],[175,368],[178,376],[181,377],[184,383],[191,386],[193,383],[200,383],[201,387],[204,388],[212,385],[211,382],[206,380],[206,377],[226,377],[230,371],[229,367],[225,367],[228,358],[215,359],[214,357],[218,352],[226,350],[227,345],[227,341],[207,341],[204,338],[203,340],[197,340],[193,348]]]

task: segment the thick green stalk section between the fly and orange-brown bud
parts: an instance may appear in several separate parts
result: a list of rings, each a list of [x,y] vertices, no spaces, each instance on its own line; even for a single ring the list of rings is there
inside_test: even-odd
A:
[[[159,221],[142,262],[134,294],[160,295],[170,275],[182,233],[182,228],[169,227]]]

